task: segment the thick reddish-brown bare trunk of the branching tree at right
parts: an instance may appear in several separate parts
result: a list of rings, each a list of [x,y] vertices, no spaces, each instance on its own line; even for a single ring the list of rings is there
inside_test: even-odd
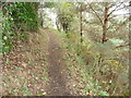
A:
[[[107,8],[107,5],[108,5],[108,3],[106,2],[105,14],[104,14],[104,23],[103,23],[103,38],[102,38],[102,42],[103,44],[106,41],[106,34],[107,34],[108,11],[109,11],[109,9]]]

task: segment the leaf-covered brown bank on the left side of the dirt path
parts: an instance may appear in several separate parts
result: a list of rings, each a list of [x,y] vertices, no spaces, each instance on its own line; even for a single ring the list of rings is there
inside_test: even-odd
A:
[[[40,34],[27,33],[27,42],[17,41],[16,48],[3,62],[4,96],[46,95],[48,36],[40,29]]]

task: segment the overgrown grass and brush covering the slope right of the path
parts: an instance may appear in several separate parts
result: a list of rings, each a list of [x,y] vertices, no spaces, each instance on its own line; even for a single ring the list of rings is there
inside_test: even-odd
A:
[[[80,44],[76,34],[64,35],[66,60],[75,95],[128,96],[128,66],[119,61],[118,50],[90,39]],[[107,49],[107,50],[106,50]],[[112,51],[112,52],[110,52]],[[76,85],[79,83],[79,85]],[[81,90],[79,89],[81,88]]]

